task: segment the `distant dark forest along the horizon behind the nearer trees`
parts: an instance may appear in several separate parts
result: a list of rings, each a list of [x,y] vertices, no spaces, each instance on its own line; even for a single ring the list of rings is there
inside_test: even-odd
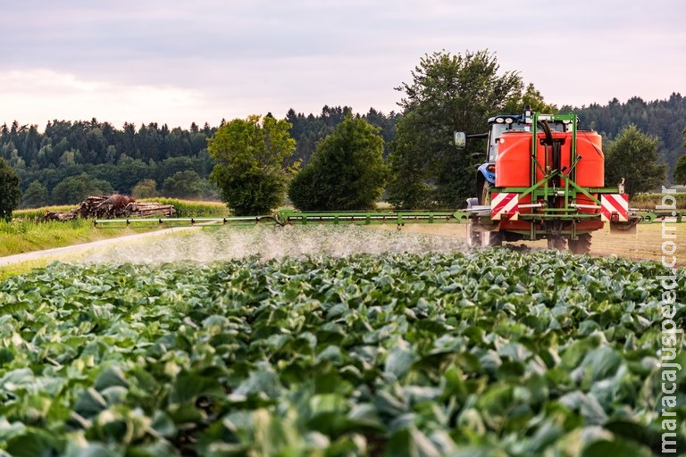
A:
[[[292,124],[289,132],[297,142],[292,160],[304,166],[315,145],[352,111],[347,106],[324,106],[317,114],[289,110],[285,119]],[[683,154],[686,99],[680,94],[651,102],[632,97],[626,103],[614,99],[605,105],[563,106],[559,112],[576,112],[581,127],[598,130],[604,141],[612,140],[631,124],[658,137],[658,160],[668,165],[668,177]],[[356,117],[380,129],[388,154],[402,114],[372,108]],[[486,119],[483,127],[485,131]],[[84,195],[113,191],[219,199],[216,187],[208,180],[214,161],[207,152],[207,139],[217,128],[193,123],[189,129],[170,129],[151,122],[140,126],[125,123],[118,129],[93,119],[53,120],[40,132],[35,125],[14,121],[0,129],[0,156],[21,180],[23,207],[74,204]]]

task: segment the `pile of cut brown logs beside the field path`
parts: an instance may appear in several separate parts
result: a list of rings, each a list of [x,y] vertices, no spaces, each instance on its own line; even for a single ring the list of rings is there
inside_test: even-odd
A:
[[[140,202],[128,195],[89,196],[79,207],[65,212],[47,211],[42,220],[160,218],[171,217],[176,211],[171,204]]]

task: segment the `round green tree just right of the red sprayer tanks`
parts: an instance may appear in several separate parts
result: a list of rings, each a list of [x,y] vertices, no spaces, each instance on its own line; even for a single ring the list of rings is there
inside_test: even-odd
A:
[[[605,183],[615,186],[624,179],[629,195],[659,187],[667,166],[657,162],[659,138],[640,132],[634,124],[622,130],[605,148]]]

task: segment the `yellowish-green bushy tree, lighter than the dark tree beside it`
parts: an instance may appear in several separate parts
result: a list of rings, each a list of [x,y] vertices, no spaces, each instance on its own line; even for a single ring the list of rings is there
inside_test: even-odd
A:
[[[287,161],[296,149],[290,127],[251,115],[223,123],[210,138],[207,149],[217,161],[210,180],[235,214],[262,214],[283,202],[292,176]]]

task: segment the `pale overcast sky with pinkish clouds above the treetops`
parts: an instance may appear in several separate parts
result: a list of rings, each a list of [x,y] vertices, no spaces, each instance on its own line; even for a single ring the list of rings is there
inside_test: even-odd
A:
[[[398,111],[422,55],[489,49],[548,103],[686,96],[683,0],[0,0],[0,124]]]

